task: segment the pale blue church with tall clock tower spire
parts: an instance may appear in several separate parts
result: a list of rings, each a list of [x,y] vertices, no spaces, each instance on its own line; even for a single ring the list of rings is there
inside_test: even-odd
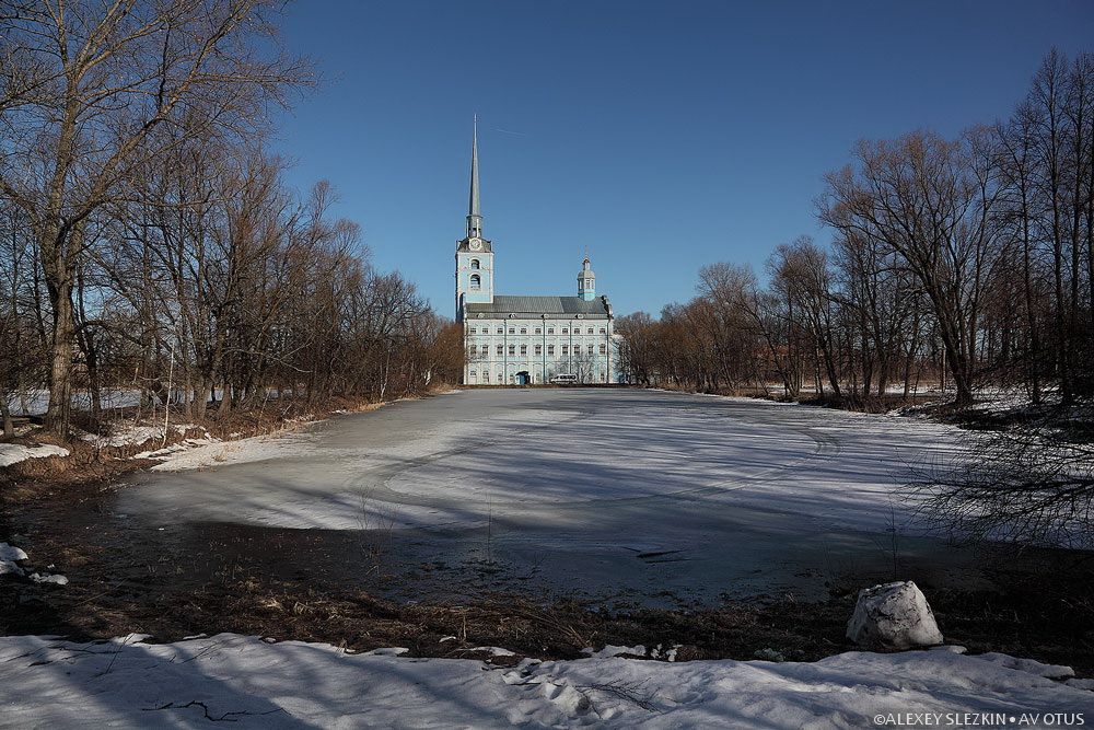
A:
[[[493,256],[493,242],[482,234],[476,124],[467,230],[456,242],[456,321],[464,328],[464,383],[616,382],[612,304],[596,293],[589,256],[578,271],[573,297],[496,294]]]

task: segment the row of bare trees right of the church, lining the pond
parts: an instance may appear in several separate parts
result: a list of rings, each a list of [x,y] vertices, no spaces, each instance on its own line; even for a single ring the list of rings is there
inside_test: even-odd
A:
[[[1050,53],[1011,118],[863,141],[826,176],[830,247],[779,246],[761,287],[715,264],[660,320],[625,317],[640,383],[781,383],[839,399],[952,383],[1094,395],[1094,56]]]

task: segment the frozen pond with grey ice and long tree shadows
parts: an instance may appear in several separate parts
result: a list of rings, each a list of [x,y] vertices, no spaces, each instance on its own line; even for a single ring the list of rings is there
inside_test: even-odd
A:
[[[400,598],[817,596],[849,572],[971,570],[894,495],[952,433],[740,398],[478,390],[207,447],[161,467],[201,468],[142,475],[112,509],[249,569]]]

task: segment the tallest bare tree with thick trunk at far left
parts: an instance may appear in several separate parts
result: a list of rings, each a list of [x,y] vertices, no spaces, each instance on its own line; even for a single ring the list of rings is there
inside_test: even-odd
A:
[[[91,217],[136,165],[185,137],[154,135],[160,127],[186,115],[190,129],[248,128],[302,80],[294,61],[254,50],[270,33],[269,4],[0,2],[0,57],[18,60],[0,68],[0,193],[26,213],[39,251],[51,315],[46,422],[58,434],[69,428],[73,287]]]

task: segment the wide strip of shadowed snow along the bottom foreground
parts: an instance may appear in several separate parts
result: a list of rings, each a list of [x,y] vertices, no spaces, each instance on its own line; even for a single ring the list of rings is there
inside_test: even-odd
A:
[[[909,712],[1005,727],[1028,712],[1089,722],[1094,693],[951,651],[503,669],[231,634],[165,645],[23,636],[0,639],[0,708],[3,728],[862,728]]]

